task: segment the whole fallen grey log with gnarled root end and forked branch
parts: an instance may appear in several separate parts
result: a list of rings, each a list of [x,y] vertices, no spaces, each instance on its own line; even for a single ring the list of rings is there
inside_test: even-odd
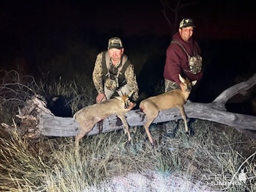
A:
[[[256,84],[256,74],[248,81],[238,83],[223,91],[211,103],[187,102],[185,107],[189,118],[205,119],[234,127],[247,137],[256,138],[256,116],[231,113],[226,110],[226,102],[237,94],[245,94]],[[70,117],[56,117],[46,108],[46,101],[40,95],[34,95],[26,102],[20,114],[20,129],[25,137],[40,137],[40,135],[54,137],[75,136],[79,132],[79,125]],[[153,123],[160,123],[181,119],[178,109],[160,111]],[[131,110],[126,113],[126,120],[130,126],[141,126],[145,123],[145,115],[140,110]],[[6,124],[2,124],[6,127]],[[100,132],[110,132],[123,129],[121,120],[112,115],[97,123],[87,135]]]

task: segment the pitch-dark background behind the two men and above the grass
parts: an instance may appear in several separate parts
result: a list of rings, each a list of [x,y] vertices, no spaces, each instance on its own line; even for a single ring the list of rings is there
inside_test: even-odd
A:
[[[171,6],[175,1],[170,1]],[[250,1],[180,1],[178,21],[195,21],[204,76],[191,100],[211,102],[255,73],[255,13]],[[189,4],[189,5],[188,5]],[[161,1],[0,1],[0,67],[58,79],[91,75],[110,37],[123,40],[140,92],[161,83],[171,28]],[[174,22],[170,10],[168,17]],[[244,77],[241,78],[241,77]]]

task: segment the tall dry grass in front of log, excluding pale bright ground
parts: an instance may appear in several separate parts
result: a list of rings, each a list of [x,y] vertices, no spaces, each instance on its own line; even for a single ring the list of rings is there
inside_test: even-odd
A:
[[[180,126],[177,138],[162,138],[162,143],[155,148],[149,145],[142,127],[132,132],[130,144],[123,131],[116,131],[84,138],[78,151],[73,138],[48,138],[33,143],[19,138],[14,132],[11,139],[0,140],[3,157],[0,162],[0,189],[87,191],[92,186],[100,190],[101,183],[108,182],[111,186],[109,191],[115,191],[115,186],[109,181],[111,178],[129,173],[138,173],[138,177],[149,170],[162,175],[162,178],[183,172],[187,174],[187,180],[206,185],[203,175],[234,175],[255,150],[255,141],[244,138],[230,127],[221,127],[223,130],[220,131],[218,127],[222,125],[219,124],[205,121],[194,124],[198,126],[192,139],[186,139],[184,127]],[[161,137],[158,127],[151,129],[153,137]],[[247,177],[252,177],[246,182],[248,186],[229,186],[227,191],[255,190],[254,159],[246,161],[243,167],[247,170]],[[225,186],[212,186],[212,190],[221,188]]]

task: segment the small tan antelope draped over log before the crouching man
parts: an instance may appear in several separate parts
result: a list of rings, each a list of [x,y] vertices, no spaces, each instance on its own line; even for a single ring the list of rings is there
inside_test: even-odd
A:
[[[124,94],[122,97],[115,97],[78,110],[73,117],[79,123],[79,127],[81,128],[79,134],[75,138],[76,147],[79,146],[79,140],[81,140],[86,133],[91,131],[96,123],[113,114],[116,114],[121,119],[125,128],[124,131],[127,133],[128,140],[130,141],[131,136],[125,113],[130,110],[129,106],[131,101],[129,98],[132,93],[133,92],[129,95]]]

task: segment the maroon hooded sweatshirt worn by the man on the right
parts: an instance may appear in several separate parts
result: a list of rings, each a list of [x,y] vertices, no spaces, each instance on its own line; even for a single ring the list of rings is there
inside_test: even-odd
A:
[[[181,45],[183,45],[189,55],[194,56],[195,53],[199,55],[201,54],[201,49],[193,38],[190,38],[189,42],[186,43],[182,40],[178,31],[176,34],[174,34],[173,40],[178,41]],[[192,74],[189,72],[187,54],[183,51],[180,45],[177,43],[171,43],[166,50],[164,78],[169,79],[179,85],[179,74],[181,74],[182,77],[188,77],[190,81],[199,81],[203,76],[202,71],[197,74]]]

